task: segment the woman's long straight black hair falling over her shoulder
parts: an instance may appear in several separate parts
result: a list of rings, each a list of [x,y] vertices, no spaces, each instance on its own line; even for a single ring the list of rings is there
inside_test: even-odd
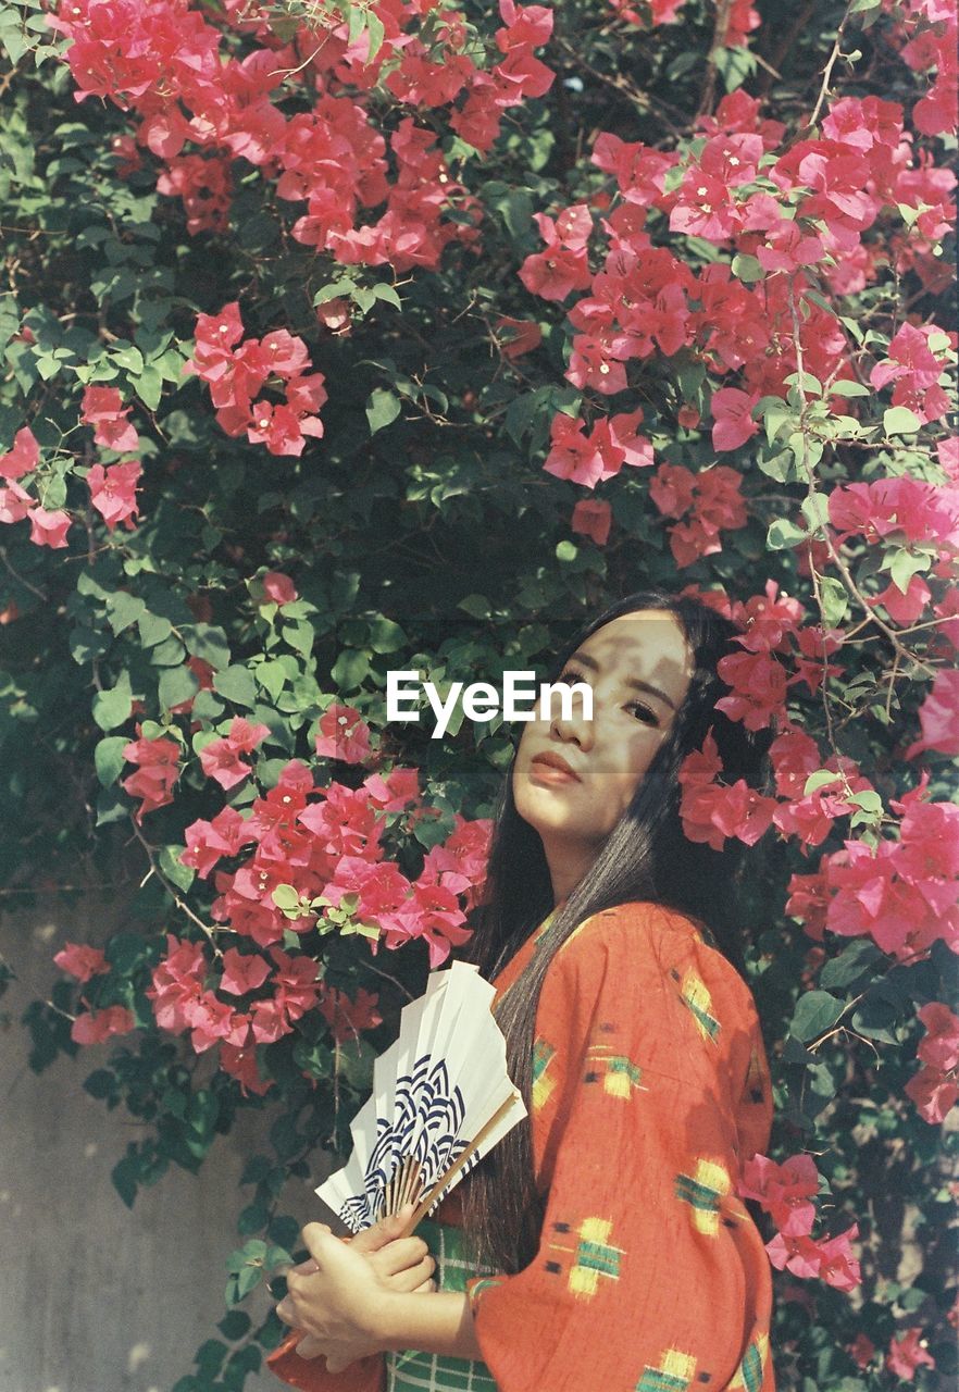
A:
[[[743,970],[736,922],[736,884],[742,844],[715,852],[686,839],[679,818],[679,767],[713,731],[724,778],[745,778],[757,786],[764,778],[768,739],[750,735],[742,724],[715,710],[728,690],[717,665],[739,649],[735,624],[686,596],[643,590],[612,604],[578,635],[557,658],[548,681],[557,681],[571,654],[614,618],[637,610],[674,615],[692,657],[686,699],[676,713],[632,802],[603,844],[593,864],[557,910],[530,965],[496,1009],[507,1040],[509,1076],[532,1112],[533,1038],[536,1008],[550,962],[587,917],[617,903],[647,899],[699,919],[713,933],[720,951]],[[553,887],[539,832],[516,812],[512,795],[514,760],[493,825],[490,860],[475,933],[463,956],[491,979],[553,910]],[[496,1146],[466,1176],[461,1189],[463,1226],[475,1260],[497,1271],[515,1272],[536,1256],[543,1204],[533,1178],[529,1116]]]

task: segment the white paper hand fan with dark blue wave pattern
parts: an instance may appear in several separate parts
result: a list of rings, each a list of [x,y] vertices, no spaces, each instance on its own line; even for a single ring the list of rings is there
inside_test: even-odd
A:
[[[373,1094],[351,1123],[354,1150],[316,1193],[352,1232],[416,1204],[408,1229],[526,1115],[507,1045],[475,966],[430,974],[399,1037],[373,1065]]]

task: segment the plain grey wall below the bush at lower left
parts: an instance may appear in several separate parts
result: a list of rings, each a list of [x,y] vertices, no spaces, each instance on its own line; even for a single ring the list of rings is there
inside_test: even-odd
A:
[[[0,1392],[168,1392],[223,1317],[224,1258],[251,1196],[239,1175],[266,1114],[219,1137],[199,1175],[171,1169],[125,1208],[110,1171],[136,1130],[82,1090],[109,1047],[38,1077],[15,1023],[56,979],[63,941],[102,942],[110,928],[90,901],[63,915],[0,915],[0,954],[19,977],[0,1001]],[[310,1199],[305,1186],[303,1221]],[[259,1292],[244,1304],[253,1318],[267,1307]],[[281,1384],[263,1373],[246,1388]]]

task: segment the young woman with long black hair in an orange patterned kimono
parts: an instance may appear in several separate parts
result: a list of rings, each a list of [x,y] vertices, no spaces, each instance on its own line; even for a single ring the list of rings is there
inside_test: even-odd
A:
[[[632,594],[550,674],[590,683],[593,718],[525,725],[469,944],[529,1119],[438,1210],[436,1292],[395,1226],[362,1250],[303,1229],[312,1261],[277,1307],[308,1335],[271,1359],[285,1381],[774,1388],[768,1260],[736,1196],[771,1116],[736,853],[693,845],[679,820],[679,767],[710,729],[727,780],[761,777],[756,736],[715,710],[734,636],[695,600]]]

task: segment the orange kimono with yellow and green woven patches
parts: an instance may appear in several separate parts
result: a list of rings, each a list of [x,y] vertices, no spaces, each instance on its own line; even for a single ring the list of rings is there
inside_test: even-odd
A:
[[[772,1392],[771,1272],[736,1196],[771,1094],[740,976],[679,913],[594,915],[547,972],[533,1076],[540,1249],[516,1275],[468,1282],[500,1392]],[[287,1340],[270,1366],[309,1392],[383,1386],[381,1357],[331,1375]]]

